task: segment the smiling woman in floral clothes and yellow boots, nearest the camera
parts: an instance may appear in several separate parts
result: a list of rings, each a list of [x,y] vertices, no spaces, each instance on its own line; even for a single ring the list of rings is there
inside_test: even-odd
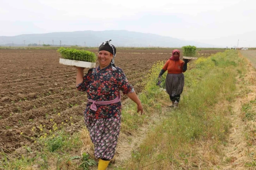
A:
[[[77,67],[77,89],[87,93],[84,111],[86,127],[99,158],[98,170],[105,170],[115,155],[121,126],[121,93],[137,104],[137,113],[143,113],[141,102],[128,82],[123,70],[115,67],[116,48],[106,41],[99,46],[99,66],[84,76],[84,68]]]

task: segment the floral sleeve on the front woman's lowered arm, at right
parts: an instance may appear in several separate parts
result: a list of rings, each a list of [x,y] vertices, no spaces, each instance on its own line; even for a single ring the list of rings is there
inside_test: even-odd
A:
[[[123,94],[134,92],[132,84],[130,84],[121,68],[118,69],[118,87]]]

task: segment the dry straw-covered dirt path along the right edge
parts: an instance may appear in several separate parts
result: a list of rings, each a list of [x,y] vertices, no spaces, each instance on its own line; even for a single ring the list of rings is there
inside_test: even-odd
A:
[[[238,77],[237,89],[238,98],[232,103],[230,136],[228,144],[224,148],[226,164],[221,169],[256,169],[255,162],[256,146],[255,143],[248,144],[246,139],[247,133],[251,133],[252,127],[249,127],[248,122],[243,121],[245,113],[242,112],[242,106],[250,103],[250,101],[256,99],[256,72],[252,67],[247,67],[247,73],[244,78]],[[254,123],[254,122],[253,122]],[[254,127],[255,130],[255,127]],[[249,164],[252,163],[252,166]],[[247,164],[247,166],[246,166]]]

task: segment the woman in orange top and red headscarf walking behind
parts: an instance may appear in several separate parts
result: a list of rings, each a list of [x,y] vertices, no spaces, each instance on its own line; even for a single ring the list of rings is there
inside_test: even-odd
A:
[[[163,69],[161,69],[158,78],[160,78],[164,72],[167,70],[168,74],[165,80],[166,92],[170,96],[172,105],[170,107],[178,108],[179,99],[183,92],[184,87],[184,72],[187,70],[188,59],[179,59],[179,50],[173,50],[172,56],[164,64]]]

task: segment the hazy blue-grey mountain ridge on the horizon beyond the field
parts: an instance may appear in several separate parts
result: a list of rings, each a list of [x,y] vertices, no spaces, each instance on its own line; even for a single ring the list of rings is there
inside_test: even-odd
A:
[[[52,32],[44,34],[22,34],[18,36],[0,36],[1,46],[12,46],[20,44],[54,44],[60,45],[79,45],[79,46],[99,46],[105,40],[112,39],[111,43],[115,46],[132,47],[181,47],[184,45],[195,45],[197,47],[212,47],[211,44],[199,43],[194,41],[180,40],[167,36],[159,36],[151,33],[141,33],[126,30],[109,31],[74,31],[74,32]]]

